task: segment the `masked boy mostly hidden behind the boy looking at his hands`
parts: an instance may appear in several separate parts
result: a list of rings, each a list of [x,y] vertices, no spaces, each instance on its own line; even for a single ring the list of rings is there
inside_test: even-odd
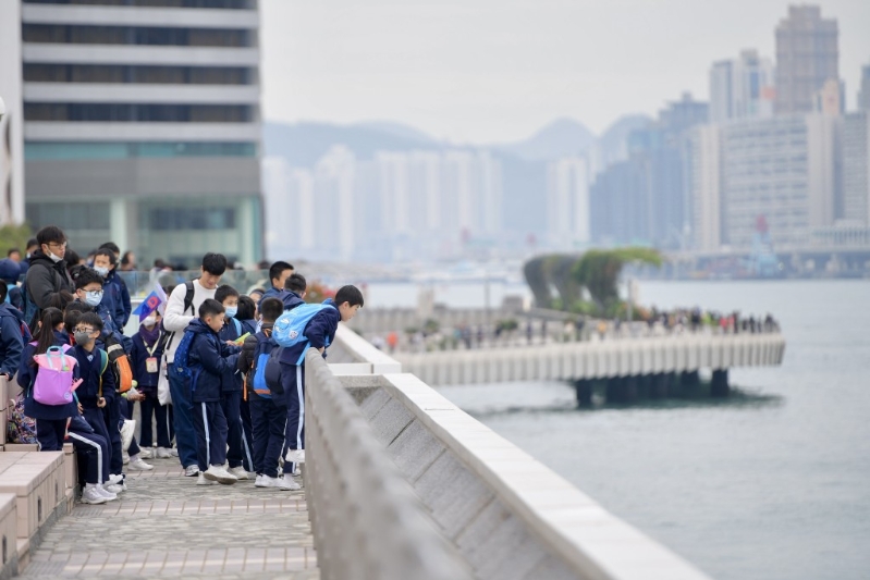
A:
[[[242,322],[236,318],[238,313],[238,292],[229,285],[223,285],[215,291],[215,299],[221,303],[224,311],[223,328],[219,336],[223,343],[235,343],[244,334]],[[240,346],[240,345],[236,345]],[[242,423],[242,388],[243,375],[233,367],[224,377],[221,393],[221,409],[226,418],[226,461],[230,473],[240,480],[248,479],[248,472],[254,471],[250,445],[245,439]]]

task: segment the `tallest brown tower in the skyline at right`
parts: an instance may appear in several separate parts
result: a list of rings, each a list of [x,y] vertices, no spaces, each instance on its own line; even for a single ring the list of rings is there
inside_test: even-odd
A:
[[[812,112],[825,81],[840,81],[837,34],[818,5],[788,7],[776,27],[776,114]]]

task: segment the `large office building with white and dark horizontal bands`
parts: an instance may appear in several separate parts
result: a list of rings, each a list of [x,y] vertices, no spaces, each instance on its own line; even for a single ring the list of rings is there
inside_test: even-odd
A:
[[[33,226],[144,263],[262,257],[256,0],[23,0],[16,26]]]

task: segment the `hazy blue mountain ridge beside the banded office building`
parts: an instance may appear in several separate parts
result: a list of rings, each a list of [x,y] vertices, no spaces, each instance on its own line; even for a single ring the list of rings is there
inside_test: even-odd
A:
[[[267,156],[283,157],[291,165],[301,168],[314,166],[334,145],[347,146],[359,159],[370,159],[377,151],[441,148],[440,144],[425,143],[419,137],[399,136],[396,127],[383,131],[371,126],[307,122],[286,124],[267,121],[262,124],[262,143]]]

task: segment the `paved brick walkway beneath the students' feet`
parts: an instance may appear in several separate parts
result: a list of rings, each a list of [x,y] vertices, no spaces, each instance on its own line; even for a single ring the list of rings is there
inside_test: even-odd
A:
[[[175,458],[147,461],[118,501],[76,504],[19,578],[319,578],[304,490],[198,486]]]

